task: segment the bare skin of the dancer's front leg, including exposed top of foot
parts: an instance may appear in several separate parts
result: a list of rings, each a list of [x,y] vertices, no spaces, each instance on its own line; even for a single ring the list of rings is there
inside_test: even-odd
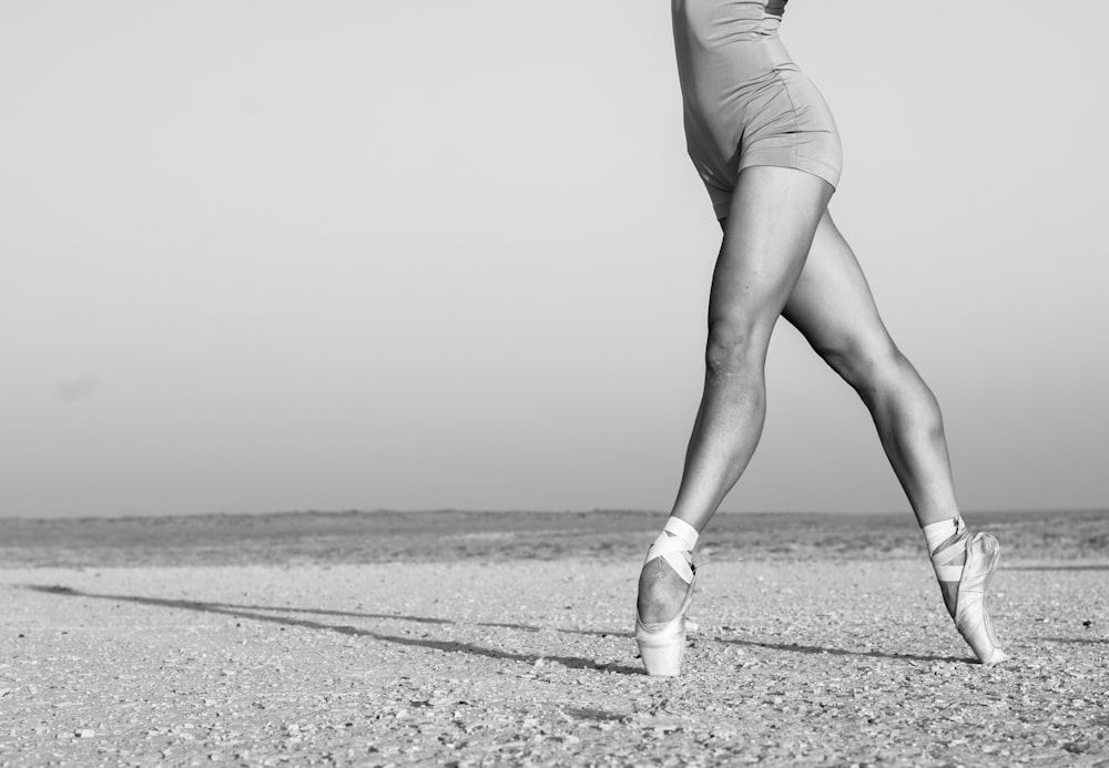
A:
[[[759,442],[766,346],[831,195],[826,182],[794,168],[740,173],[709,296],[704,393],[671,514],[698,532]],[[684,594],[685,582],[665,560],[650,560],[639,583],[642,621],[668,621]]]

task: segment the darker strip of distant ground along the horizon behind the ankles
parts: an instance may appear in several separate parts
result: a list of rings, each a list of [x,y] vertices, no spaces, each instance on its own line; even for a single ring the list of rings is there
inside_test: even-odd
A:
[[[1109,512],[967,513],[1013,557],[1109,556]],[[4,567],[128,567],[462,562],[470,560],[638,560],[662,512],[279,512],[150,518],[0,520]],[[922,555],[908,512],[722,513],[702,552],[723,560],[888,560]],[[865,553],[865,554],[863,554]]]

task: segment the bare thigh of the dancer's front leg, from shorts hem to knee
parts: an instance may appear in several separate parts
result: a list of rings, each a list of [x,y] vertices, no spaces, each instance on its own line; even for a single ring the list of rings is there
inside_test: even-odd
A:
[[[710,328],[736,325],[767,338],[794,287],[832,186],[804,171],[744,168],[736,180],[709,299]]]

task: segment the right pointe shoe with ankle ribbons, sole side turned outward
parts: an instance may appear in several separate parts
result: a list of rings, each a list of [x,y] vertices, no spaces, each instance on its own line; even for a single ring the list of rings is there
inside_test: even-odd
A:
[[[962,520],[959,521],[962,523]],[[958,531],[959,534],[963,530]],[[964,555],[965,552],[965,555]],[[964,555],[962,564],[949,564]],[[942,582],[958,582],[955,602],[955,628],[963,635],[975,656],[991,667],[1008,658],[997,644],[994,624],[986,612],[986,587],[997,570],[1001,547],[989,533],[976,533],[969,539],[959,536],[940,545],[933,553],[936,576]]]

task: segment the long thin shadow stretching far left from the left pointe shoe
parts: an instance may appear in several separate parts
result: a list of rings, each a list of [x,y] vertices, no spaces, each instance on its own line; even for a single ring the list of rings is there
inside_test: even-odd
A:
[[[204,603],[200,601],[190,600],[167,600],[164,597],[140,597],[138,595],[104,595],[95,594],[91,592],[80,592],[78,590],[71,590],[65,586],[43,586],[40,584],[28,584],[24,588],[31,590],[33,592],[41,592],[50,595],[58,595],[63,597],[88,597],[92,600],[112,600],[116,602],[128,602],[128,603],[139,603],[140,605],[153,605],[163,608],[179,608],[184,611],[196,611],[200,613],[213,613],[224,616],[235,616],[236,618],[247,618],[256,622],[268,622],[271,624],[282,624],[285,626],[299,626],[306,629],[323,629],[328,632],[336,632],[340,635],[350,635],[354,637],[370,637],[373,639],[381,641],[384,643],[395,643],[397,645],[406,645],[419,648],[430,648],[433,651],[445,651],[448,653],[462,653],[470,654],[472,656],[484,656],[486,658],[497,658],[507,662],[522,662],[525,664],[535,665],[536,662],[543,659],[546,662],[554,662],[561,664],[570,669],[593,669],[597,672],[615,672],[622,675],[643,675],[645,674],[642,669],[635,667],[622,666],[618,664],[598,664],[597,662],[582,658],[580,656],[547,656],[547,655],[533,655],[533,654],[516,654],[508,651],[496,651],[494,648],[486,648],[480,645],[475,645],[474,643],[458,643],[456,641],[439,641],[439,639],[425,639],[416,637],[399,637],[397,635],[388,635],[381,632],[373,632],[370,629],[359,629],[358,627],[349,625],[335,625],[335,624],[323,624],[321,622],[313,622],[306,618],[292,618],[288,616],[269,616],[262,613],[254,613],[253,611],[243,610],[236,606],[227,606],[220,603]],[[285,611],[285,608],[266,608],[268,611]],[[357,615],[357,614],[356,614]],[[398,616],[388,616],[388,618],[399,618]],[[439,619],[434,619],[439,621]],[[444,619],[445,621],[445,619]]]

